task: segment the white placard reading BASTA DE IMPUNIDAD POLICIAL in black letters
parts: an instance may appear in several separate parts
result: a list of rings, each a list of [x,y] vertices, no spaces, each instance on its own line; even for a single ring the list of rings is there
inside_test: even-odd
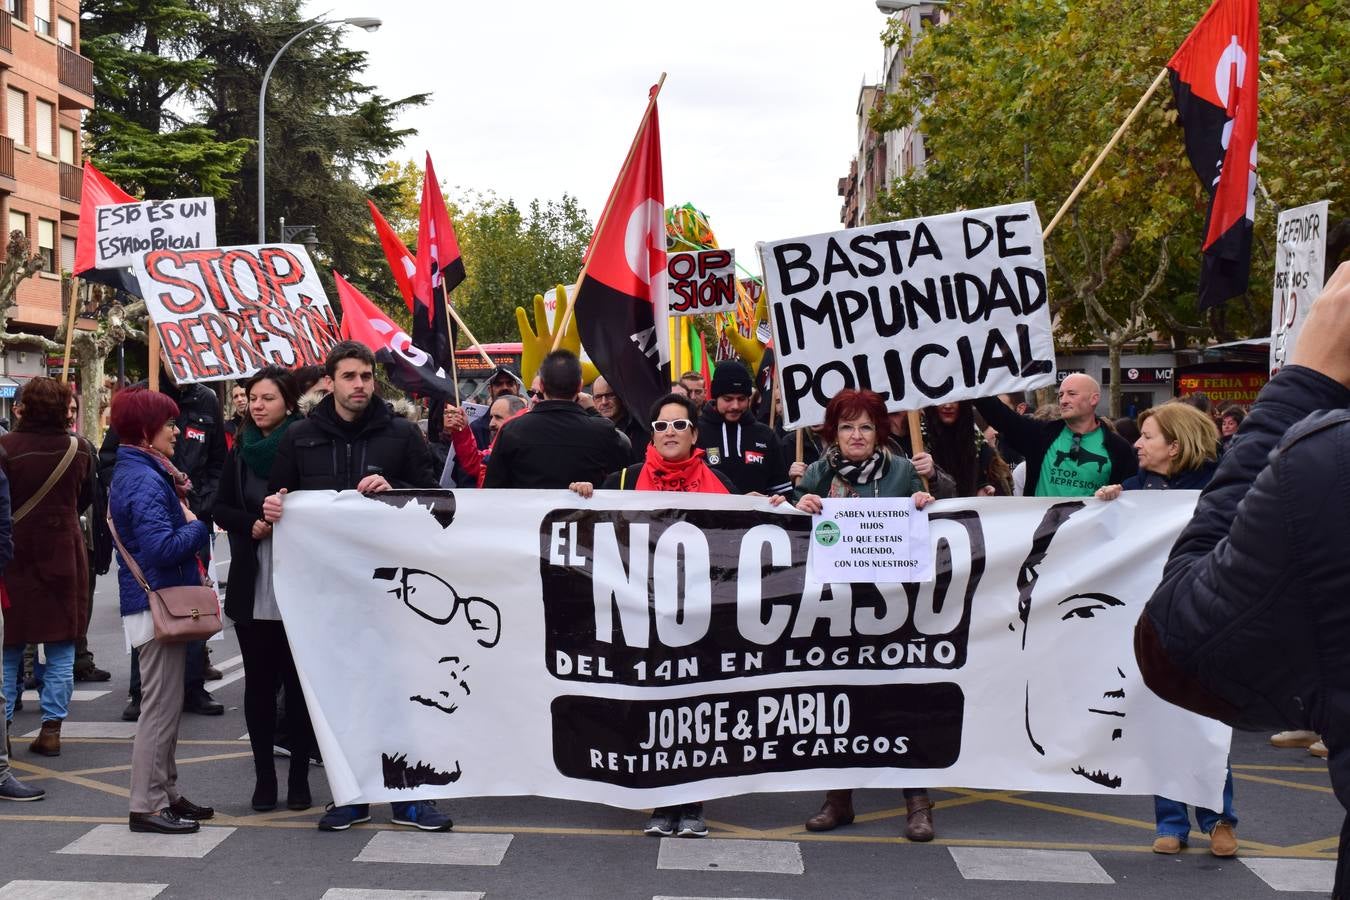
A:
[[[783,426],[845,387],[892,413],[1054,383],[1034,204],[759,246]]]

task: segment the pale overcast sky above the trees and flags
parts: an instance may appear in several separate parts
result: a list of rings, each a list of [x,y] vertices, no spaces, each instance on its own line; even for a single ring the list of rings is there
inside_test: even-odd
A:
[[[578,197],[594,221],[647,90],[660,96],[666,205],[693,202],[759,274],[755,243],[840,227],[859,88],[882,69],[873,0],[327,0],[387,97],[432,92],[401,124],[452,188]],[[466,260],[473,264],[473,260]],[[562,278],[564,273],[559,273]]]

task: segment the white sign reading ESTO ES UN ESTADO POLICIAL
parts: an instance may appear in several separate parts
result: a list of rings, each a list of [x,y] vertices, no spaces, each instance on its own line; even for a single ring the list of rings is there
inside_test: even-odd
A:
[[[151,250],[216,246],[216,200],[147,200],[94,208],[94,269],[123,269]]]

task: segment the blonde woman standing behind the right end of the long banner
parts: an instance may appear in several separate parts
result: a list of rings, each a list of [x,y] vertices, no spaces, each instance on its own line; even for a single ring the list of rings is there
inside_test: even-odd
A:
[[[1139,416],[1139,440],[1134,451],[1139,455],[1139,471],[1120,484],[1098,490],[1096,497],[1115,499],[1126,491],[1200,491],[1214,478],[1218,468],[1219,432],[1208,416],[1195,406],[1181,402],[1162,403]],[[1191,835],[1191,812],[1180,800],[1153,797],[1157,838],[1153,851],[1180,853]],[[1233,812],[1233,769],[1223,783],[1223,810],[1195,808],[1195,822],[1210,835],[1210,853],[1231,857],[1238,851],[1235,828],[1238,816]]]

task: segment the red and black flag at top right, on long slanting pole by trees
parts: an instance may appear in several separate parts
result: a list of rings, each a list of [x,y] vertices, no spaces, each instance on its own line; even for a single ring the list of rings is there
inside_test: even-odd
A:
[[[1168,61],[1185,151],[1210,193],[1200,308],[1247,290],[1257,189],[1257,0],[1214,0]]]

